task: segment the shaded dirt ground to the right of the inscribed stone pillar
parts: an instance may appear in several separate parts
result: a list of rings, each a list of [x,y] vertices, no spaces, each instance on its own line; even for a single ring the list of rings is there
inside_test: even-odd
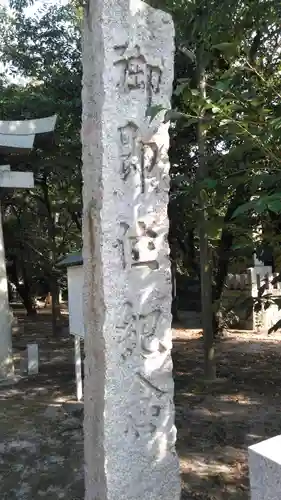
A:
[[[217,346],[222,380],[206,386],[200,335],[175,334],[182,499],[249,499],[247,448],[280,433],[280,339],[226,336]]]

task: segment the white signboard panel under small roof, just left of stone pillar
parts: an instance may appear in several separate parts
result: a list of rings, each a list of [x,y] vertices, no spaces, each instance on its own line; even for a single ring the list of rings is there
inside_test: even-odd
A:
[[[83,266],[67,269],[69,331],[71,335],[84,338],[83,318]]]

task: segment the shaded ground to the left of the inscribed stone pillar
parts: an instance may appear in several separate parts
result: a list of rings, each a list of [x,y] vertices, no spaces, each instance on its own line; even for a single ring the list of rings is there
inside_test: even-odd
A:
[[[40,373],[0,392],[1,500],[80,500],[82,418],[64,409],[74,399],[73,340],[52,337],[50,316],[19,316],[16,354],[39,344]]]

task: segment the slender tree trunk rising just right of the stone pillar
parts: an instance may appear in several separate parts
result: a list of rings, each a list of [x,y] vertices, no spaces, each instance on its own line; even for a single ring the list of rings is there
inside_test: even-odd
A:
[[[198,87],[203,99],[206,98],[206,74],[201,66],[201,56],[198,64]],[[202,181],[208,176],[208,165],[206,162],[206,132],[204,128],[204,110],[198,121],[198,180]],[[208,214],[205,198],[202,192],[198,197],[199,217],[198,233],[200,245],[200,281],[201,281],[201,311],[202,327],[204,337],[204,372],[208,380],[216,378],[215,346],[213,332],[213,308],[212,308],[212,269],[211,251],[208,238]]]

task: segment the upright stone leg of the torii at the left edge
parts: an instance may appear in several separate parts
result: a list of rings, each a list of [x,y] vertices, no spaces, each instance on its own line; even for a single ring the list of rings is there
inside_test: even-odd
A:
[[[8,281],[0,207],[0,385],[14,375],[12,354],[12,315],[9,308]]]

